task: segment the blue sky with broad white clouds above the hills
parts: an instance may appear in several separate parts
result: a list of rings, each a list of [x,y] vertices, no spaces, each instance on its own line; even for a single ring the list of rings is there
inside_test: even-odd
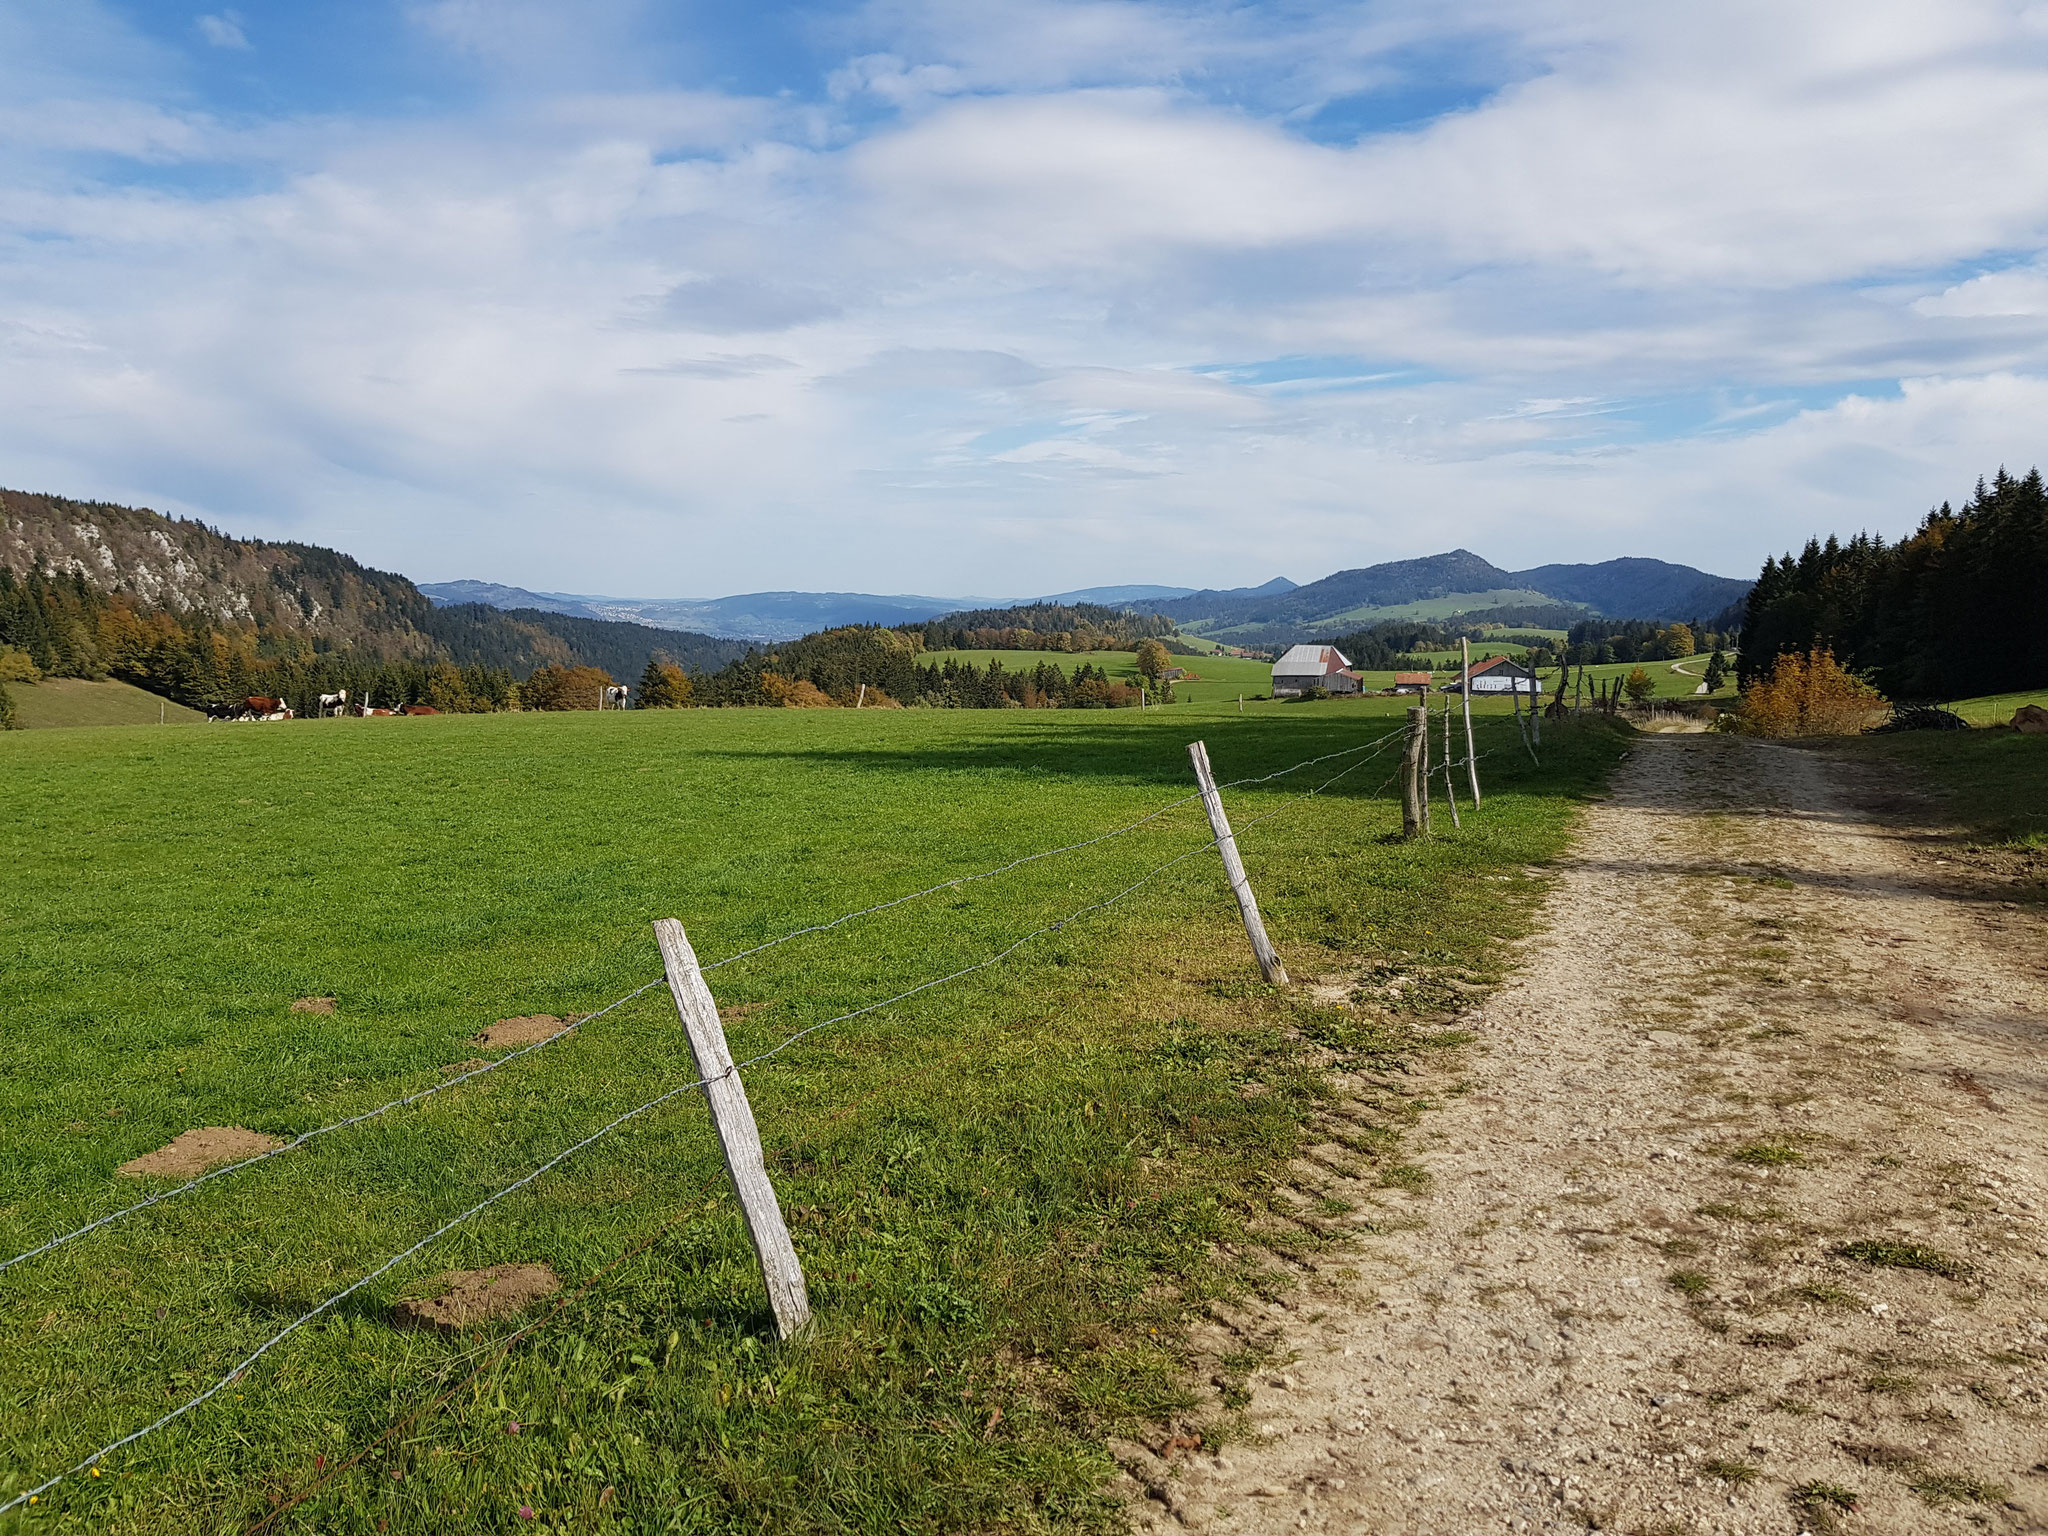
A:
[[[1751,575],[2044,438],[2048,4],[0,0],[0,483],[416,580]]]

